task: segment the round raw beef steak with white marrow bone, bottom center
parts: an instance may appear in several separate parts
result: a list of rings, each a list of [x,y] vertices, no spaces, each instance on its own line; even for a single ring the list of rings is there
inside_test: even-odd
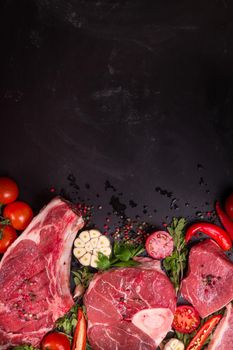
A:
[[[160,262],[97,274],[84,296],[93,350],[154,350],[171,330],[176,293]]]

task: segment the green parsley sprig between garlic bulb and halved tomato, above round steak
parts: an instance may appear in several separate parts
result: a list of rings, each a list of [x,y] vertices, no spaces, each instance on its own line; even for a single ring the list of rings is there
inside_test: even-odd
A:
[[[113,253],[110,257],[103,253],[98,253],[97,268],[99,270],[108,270],[111,267],[130,267],[137,266],[139,263],[133,258],[144,252],[142,245],[135,246],[124,242],[114,242]]]

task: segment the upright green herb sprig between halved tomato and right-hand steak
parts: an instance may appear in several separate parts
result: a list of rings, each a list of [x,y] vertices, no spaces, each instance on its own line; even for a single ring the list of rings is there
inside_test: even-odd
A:
[[[174,240],[174,250],[172,255],[164,259],[163,266],[175,287],[176,293],[180,289],[180,282],[187,264],[188,249],[185,243],[185,226],[186,220],[184,218],[173,218],[171,225],[167,227]]]

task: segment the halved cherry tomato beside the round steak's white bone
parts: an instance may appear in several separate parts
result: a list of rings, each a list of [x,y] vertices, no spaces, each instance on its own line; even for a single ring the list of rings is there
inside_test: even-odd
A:
[[[176,308],[172,327],[180,333],[192,333],[200,324],[200,316],[194,307],[181,305]]]

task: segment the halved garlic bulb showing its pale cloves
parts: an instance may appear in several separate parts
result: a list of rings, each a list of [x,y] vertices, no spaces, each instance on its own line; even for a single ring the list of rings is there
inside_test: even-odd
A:
[[[74,241],[73,254],[83,266],[96,268],[98,253],[110,256],[110,240],[98,230],[82,231]]]

